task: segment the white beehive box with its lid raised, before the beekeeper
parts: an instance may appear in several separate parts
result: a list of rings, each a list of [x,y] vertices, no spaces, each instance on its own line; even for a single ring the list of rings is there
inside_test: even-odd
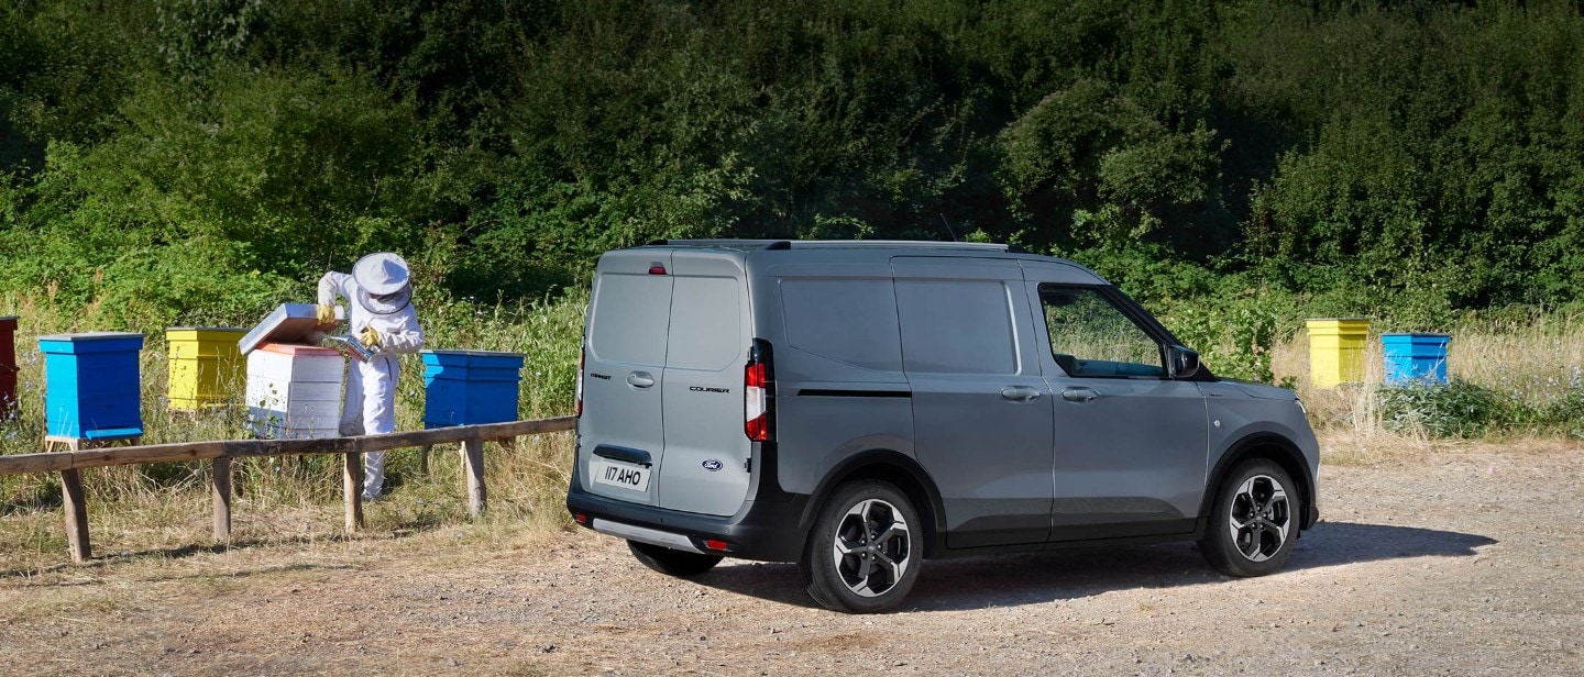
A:
[[[247,429],[255,437],[307,440],[337,435],[341,353],[261,343],[247,354]]]

